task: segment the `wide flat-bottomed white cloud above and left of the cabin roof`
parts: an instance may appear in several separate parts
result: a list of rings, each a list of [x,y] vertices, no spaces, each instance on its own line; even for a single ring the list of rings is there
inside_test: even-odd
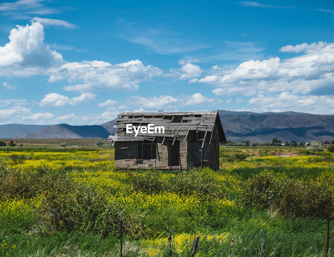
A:
[[[63,64],[49,77],[49,82],[66,79],[69,83],[85,83],[65,86],[66,91],[136,90],[139,88],[138,83],[162,74],[162,70],[151,65],[145,66],[139,60],[116,65],[104,61],[82,61]]]

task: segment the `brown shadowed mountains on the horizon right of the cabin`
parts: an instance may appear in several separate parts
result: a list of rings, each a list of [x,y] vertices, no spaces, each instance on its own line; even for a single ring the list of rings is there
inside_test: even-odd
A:
[[[240,142],[310,142],[334,139],[334,115],[300,112],[231,112],[218,110],[227,140]]]

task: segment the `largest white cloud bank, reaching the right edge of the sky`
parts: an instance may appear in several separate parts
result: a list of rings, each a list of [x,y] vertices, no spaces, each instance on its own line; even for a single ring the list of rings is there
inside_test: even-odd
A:
[[[209,75],[198,82],[212,85],[215,87],[212,93],[219,96],[282,91],[308,95],[319,90],[334,93],[331,89],[334,83],[334,43],[286,46],[281,51],[304,51],[306,54],[285,60],[272,57],[242,62],[236,69],[224,71],[226,75]]]

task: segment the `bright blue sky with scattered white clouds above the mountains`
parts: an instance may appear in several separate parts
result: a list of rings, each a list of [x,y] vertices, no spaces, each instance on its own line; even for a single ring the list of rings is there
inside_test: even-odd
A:
[[[0,19],[0,124],[334,114],[331,1],[20,0]]]

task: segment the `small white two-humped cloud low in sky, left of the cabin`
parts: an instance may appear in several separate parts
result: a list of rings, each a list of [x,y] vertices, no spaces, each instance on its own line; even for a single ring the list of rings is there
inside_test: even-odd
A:
[[[69,98],[67,96],[63,96],[57,93],[50,93],[50,94],[46,94],[45,97],[40,101],[39,107],[63,106],[66,104],[76,106],[80,104],[81,102],[95,100],[95,96],[96,95],[89,93],[89,94],[81,94],[80,96]]]

